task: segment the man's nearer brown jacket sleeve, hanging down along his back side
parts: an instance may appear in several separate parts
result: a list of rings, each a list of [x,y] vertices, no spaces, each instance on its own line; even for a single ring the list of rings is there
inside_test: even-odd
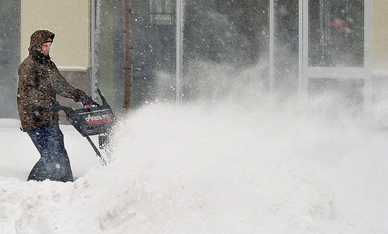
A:
[[[37,89],[37,79],[35,69],[31,68],[32,64],[25,64],[18,69],[19,75],[19,93],[23,95],[23,100],[31,103],[32,105],[40,106],[43,108],[49,108],[50,102],[47,102],[43,97],[44,94],[41,90]]]

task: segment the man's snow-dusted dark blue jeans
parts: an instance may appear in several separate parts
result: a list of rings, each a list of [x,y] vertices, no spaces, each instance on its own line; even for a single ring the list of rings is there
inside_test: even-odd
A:
[[[40,159],[32,168],[27,181],[73,182],[69,157],[65,150],[64,135],[56,127],[43,127],[27,131],[40,153]]]

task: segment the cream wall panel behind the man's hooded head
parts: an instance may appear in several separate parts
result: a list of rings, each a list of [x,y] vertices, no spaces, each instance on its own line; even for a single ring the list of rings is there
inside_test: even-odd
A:
[[[21,61],[39,29],[55,33],[50,56],[57,66],[90,67],[90,0],[22,0]]]

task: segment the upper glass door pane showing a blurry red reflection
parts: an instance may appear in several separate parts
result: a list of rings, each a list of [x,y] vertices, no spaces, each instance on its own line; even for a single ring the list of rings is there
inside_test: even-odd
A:
[[[364,1],[308,1],[308,66],[364,66]]]

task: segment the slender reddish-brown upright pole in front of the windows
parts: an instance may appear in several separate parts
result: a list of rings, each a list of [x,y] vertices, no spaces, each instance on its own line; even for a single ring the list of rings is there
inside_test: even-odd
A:
[[[124,113],[126,113],[132,107],[133,46],[132,46],[131,0],[123,0],[123,26],[124,26],[123,111]]]

